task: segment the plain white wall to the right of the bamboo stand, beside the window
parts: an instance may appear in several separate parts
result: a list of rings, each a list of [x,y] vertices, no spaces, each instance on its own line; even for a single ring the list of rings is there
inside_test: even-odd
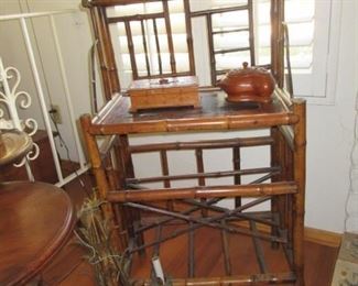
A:
[[[306,224],[341,232],[358,85],[358,3],[343,2],[334,106],[308,106]],[[358,208],[358,206],[357,206]]]

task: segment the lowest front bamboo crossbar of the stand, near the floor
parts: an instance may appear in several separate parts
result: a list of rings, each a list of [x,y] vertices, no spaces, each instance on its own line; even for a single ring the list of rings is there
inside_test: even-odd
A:
[[[224,277],[200,277],[200,278],[177,278],[171,279],[173,286],[213,286],[213,285],[263,285],[264,284],[285,284],[296,280],[293,272],[288,273],[267,273],[252,275],[232,275]],[[135,280],[134,286],[152,285],[150,280]]]

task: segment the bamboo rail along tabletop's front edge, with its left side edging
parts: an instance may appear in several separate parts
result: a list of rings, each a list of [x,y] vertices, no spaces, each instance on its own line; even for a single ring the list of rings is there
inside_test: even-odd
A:
[[[203,96],[204,98],[205,96]],[[153,133],[153,132],[181,132],[195,130],[248,130],[258,128],[270,128],[276,125],[296,124],[300,120],[297,114],[292,111],[279,111],[275,113],[230,113],[227,116],[205,114],[205,117],[185,117],[174,118],[143,118],[140,121],[132,122],[110,122],[107,121],[116,112],[128,107],[128,100],[121,95],[116,95],[106,107],[91,120],[87,127],[91,135],[108,134],[133,134],[133,133]],[[196,112],[194,110],[194,112]],[[84,116],[88,117],[89,116]]]

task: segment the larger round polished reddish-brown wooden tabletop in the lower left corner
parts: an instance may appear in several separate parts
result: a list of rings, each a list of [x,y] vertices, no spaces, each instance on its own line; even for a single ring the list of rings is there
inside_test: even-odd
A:
[[[75,213],[62,189],[45,183],[0,183],[0,285],[34,278],[72,235]]]

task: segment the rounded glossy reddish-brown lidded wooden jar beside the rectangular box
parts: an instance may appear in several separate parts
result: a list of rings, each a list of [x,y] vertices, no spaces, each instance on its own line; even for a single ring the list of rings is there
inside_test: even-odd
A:
[[[271,73],[264,68],[248,67],[228,72],[218,86],[228,95],[230,102],[253,101],[268,103],[274,89],[275,81]]]

